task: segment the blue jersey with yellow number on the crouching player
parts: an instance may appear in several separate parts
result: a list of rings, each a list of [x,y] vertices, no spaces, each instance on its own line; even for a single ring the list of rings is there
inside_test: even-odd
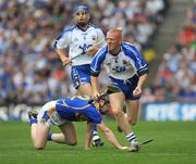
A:
[[[90,99],[89,96],[73,96],[71,98],[59,99],[56,103],[56,110],[60,117],[66,121],[88,121],[100,124],[102,121],[101,114],[96,105],[88,103]]]

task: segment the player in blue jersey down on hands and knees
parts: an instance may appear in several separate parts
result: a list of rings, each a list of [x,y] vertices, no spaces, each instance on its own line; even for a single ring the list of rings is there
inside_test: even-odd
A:
[[[36,150],[45,148],[47,140],[59,143],[76,146],[77,138],[73,122],[87,122],[85,149],[90,148],[93,128],[96,124],[103,133],[105,137],[117,149],[132,151],[127,147],[122,147],[115,139],[113,133],[105,125],[100,110],[107,108],[108,101],[102,99],[89,103],[89,96],[73,96],[46,103],[39,113],[28,112],[30,123],[30,136]],[[61,134],[51,134],[50,126],[56,125],[61,129]]]

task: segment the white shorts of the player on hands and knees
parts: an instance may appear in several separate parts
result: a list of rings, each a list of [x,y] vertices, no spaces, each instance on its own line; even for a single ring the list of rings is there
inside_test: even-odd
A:
[[[61,118],[56,111],[56,102],[57,101],[50,101],[41,108],[39,114],[37,115],[38,123],[46,123],[49,127],[51,125],[60,126],[69,123],[69,121]]]

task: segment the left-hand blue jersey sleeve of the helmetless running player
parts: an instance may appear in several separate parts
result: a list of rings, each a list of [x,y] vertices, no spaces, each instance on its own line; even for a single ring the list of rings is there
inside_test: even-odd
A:
[[[91,64],[90,64],[90,75],[91,76],[98,76],[101,71],[101,64],[106,59],[106,47],[100,49],[96,55],[93,58]]]

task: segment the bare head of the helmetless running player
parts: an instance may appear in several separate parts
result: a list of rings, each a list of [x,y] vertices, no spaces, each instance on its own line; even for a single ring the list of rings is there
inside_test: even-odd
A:
[[[120,51],[122,42],[122,29],[112,28],[107,33],[107,45],[109,52],[115,54]]]

